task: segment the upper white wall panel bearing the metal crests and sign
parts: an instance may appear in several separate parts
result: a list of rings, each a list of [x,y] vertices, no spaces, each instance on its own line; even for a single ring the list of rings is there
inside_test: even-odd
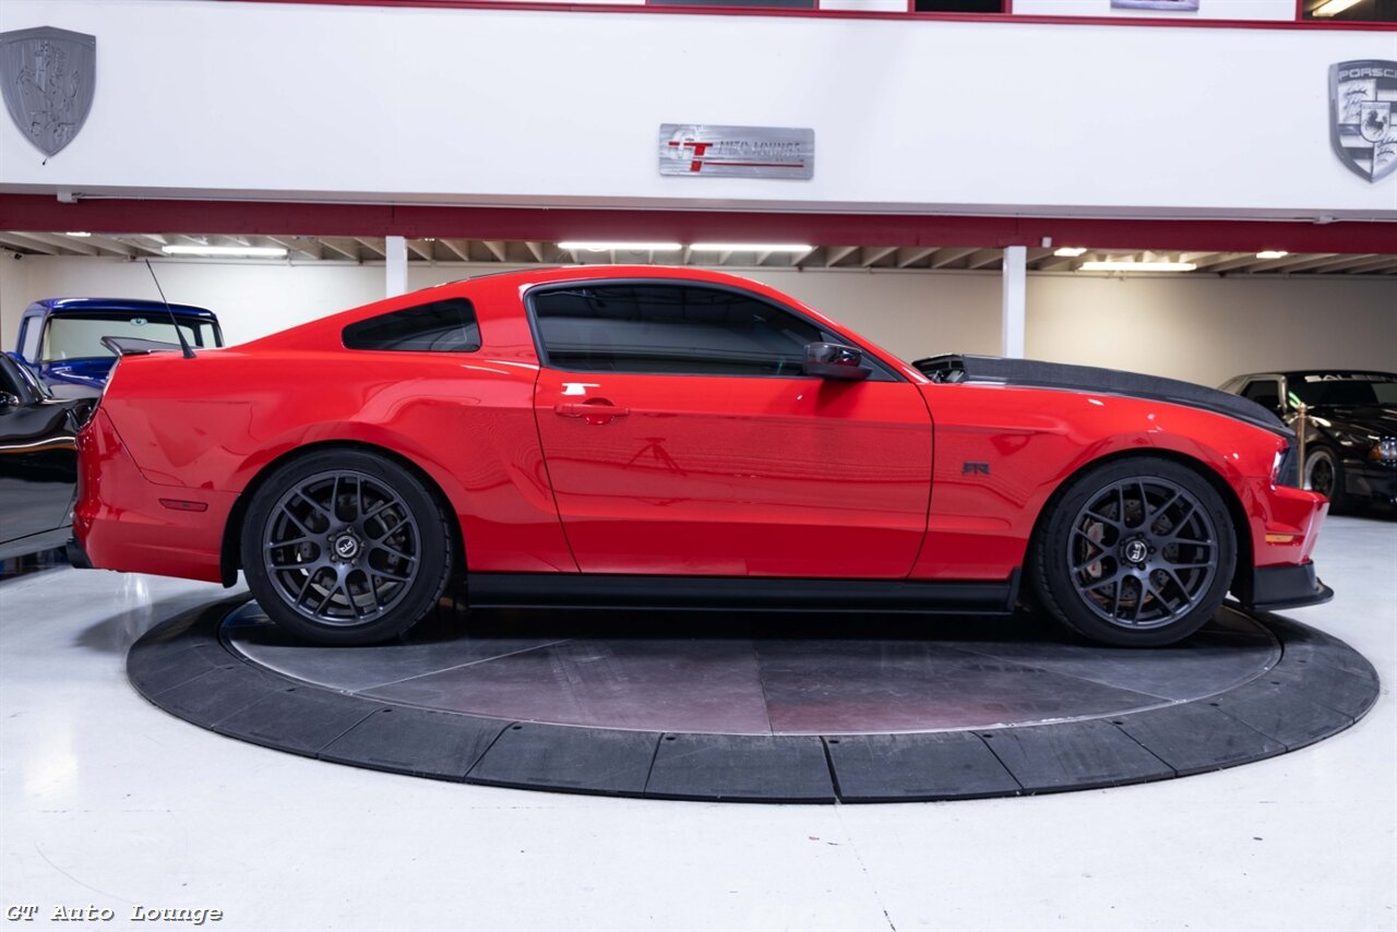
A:
[[[46,162],[0,119],[0,190],[1397,219],[1329,127],[1391,31],[0,3],[38,25],[98,36],[96,102]],[[814,179],[661,177],[664,122],[813,127]]]

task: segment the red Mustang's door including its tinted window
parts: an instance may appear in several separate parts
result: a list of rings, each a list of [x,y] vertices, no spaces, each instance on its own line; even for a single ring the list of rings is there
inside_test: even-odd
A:
[[[528,296],[535,415],[583,573],[901,578],[926,530],[930,415],[866,358],[803,374],[812,320],[733,288]]]

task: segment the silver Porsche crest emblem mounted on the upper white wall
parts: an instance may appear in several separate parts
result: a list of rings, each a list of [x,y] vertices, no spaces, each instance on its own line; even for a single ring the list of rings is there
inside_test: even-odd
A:
[[[1355,175],[1376,182],[1397,169],[1397,61],[1365,59],[1329,68],[1330,138]]]

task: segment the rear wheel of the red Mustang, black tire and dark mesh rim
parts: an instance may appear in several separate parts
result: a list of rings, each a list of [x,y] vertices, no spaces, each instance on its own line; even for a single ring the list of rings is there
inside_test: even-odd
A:
[[[243,573],[277,625],[376,644],[425,618],[451,573],[448,516],[397,463],[327,450],[279,467],[243,518]]]

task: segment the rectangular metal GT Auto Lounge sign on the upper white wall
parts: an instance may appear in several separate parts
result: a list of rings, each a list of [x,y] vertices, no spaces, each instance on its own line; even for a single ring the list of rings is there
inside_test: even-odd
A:
[[[814,130],[661,123],[659,173],[690,177],[814,177]]]

